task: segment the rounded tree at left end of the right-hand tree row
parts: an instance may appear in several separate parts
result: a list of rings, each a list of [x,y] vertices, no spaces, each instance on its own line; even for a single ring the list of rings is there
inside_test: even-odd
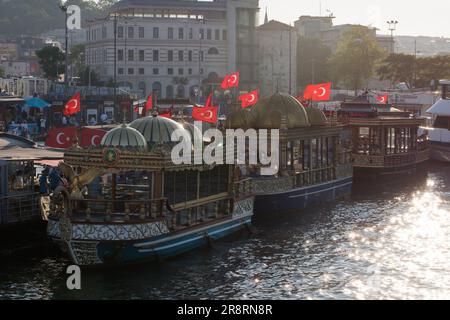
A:
[[[392,83],[406,82],[411,88],[414,83],[415,57],[409,54],[391,54],[383,60],[378,68],[381,80]]]

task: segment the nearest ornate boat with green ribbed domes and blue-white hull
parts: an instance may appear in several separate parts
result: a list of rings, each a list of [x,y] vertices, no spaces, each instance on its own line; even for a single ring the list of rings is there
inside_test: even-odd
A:
[[[234,165],[176,165],[177,130],[156,114],[109,131],[99,147],[67,150],[48,236],[81,266],[172,257],[251,224],[254,198]],[[195,138],[195,137],[194,137]]]

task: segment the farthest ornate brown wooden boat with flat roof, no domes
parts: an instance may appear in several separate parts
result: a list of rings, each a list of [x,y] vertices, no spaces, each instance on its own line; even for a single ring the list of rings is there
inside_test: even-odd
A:
[[[428,138],[418,133],[423,117],[361,100],[342,103],[339,120],[350,131],[355,178],[412,174],[429,159]]]

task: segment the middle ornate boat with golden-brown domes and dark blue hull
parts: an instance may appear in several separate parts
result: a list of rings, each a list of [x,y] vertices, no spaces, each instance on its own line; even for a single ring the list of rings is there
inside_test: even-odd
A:
[[[278,129],[279,170],[262,176],[257,167],[241,167],[251,179],[255,215],[298,212],[299,209],[350,196],[351,148],[344,127],[329,121],[315,107],[295,97],[275,93],[250,109],[230,114],[227,128]]]

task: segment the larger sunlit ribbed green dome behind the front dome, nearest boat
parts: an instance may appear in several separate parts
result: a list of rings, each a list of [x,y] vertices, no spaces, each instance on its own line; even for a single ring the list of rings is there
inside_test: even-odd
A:
[[[177,137],[181,137],[184,134],[189,135],[189,132],[178,122],[156,115],[137,119],[130,123],[130,127],[139,131],[144,136],[148,145],[177,143],[172,142],[171,137],[172,133],[179,129],[185,130],[185,133],[180,132]]]

